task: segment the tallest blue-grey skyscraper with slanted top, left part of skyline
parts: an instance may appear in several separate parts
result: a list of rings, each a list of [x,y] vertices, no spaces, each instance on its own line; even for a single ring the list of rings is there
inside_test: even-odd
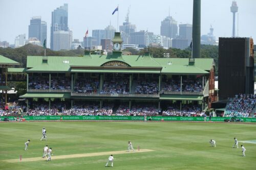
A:
[[[51,25],[51,50],[54,48],[54,31],[69,31],[68,27],[68,4],[64,4],[52,12]],[[58,34],[58,33],[57,33]],[[57,47],[55,47],[56,49]]]

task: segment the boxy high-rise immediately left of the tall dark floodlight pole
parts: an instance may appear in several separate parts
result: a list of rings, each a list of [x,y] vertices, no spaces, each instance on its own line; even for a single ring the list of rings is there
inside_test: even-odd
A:
[[[179,25],[179,38],[180,39],[187,39],[189,45],[192,41],[192,25],[191,24],[180,24]]]

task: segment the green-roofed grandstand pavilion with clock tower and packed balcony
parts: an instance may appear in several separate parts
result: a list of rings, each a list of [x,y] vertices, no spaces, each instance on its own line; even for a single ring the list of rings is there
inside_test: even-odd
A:
[[[81,57],[28,56],[26,68],[8,71],[27,74],[27,93],[20,98],[30,103],[196,104],[204,110],[217,100],[213,59],[122,55],[120,33],[112,42],[109,55],[86,50]]]

